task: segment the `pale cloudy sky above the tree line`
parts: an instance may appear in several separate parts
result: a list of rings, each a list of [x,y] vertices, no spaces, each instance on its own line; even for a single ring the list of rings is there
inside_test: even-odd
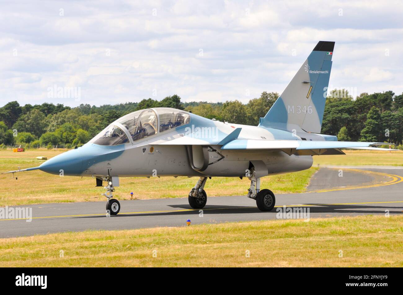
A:
[[[403,92],[401,1],[70,0],[0,7],[0,105],[100,105],[173,94],[246,103],[262,91],[281,93],[319,40],[336,41],[331,87]],[[55,86],[77,92],[57,98]]]

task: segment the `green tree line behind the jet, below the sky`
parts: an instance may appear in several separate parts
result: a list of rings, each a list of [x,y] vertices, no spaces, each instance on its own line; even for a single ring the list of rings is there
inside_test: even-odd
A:
[[[21,106],[17,101],[10,101],[0,108],[0,146],[80,146],[114,120],[149,107],[173,107],[210,119],[256,126],[277,98],[278,93],[265,91],[246,104],[238,100],[184,103],[178,95],[172,95],[161,101],[149,98],[139,103],[99,107],[81,104],[74,108],[53,103]],[[361,93],[352,99],[347,91],[335,89],[326,100],[321,133],[336,135],[341,141],[402,144],[402,128],[403,94]]]

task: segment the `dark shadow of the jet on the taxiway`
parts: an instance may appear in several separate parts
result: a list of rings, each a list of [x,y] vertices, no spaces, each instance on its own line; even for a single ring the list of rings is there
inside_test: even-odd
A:
[[[355,214],[385,214],[385,210],[389,210],[390,214],[402,213],[402,207],[396,206],[364,206],[362,204],[351,204],[351,205],[329,205],[329,204],[305,204],[311,206],[287,206],[287,208],[309,208],[310,213],[328,213],[328,214],[340,214],[340,213],[355,213]],[[183,205],[170,205],[172,208],[182,208],[182,209],[192,209],[188,204]],[[256,207],[246,207],[246,206],[220,206],[220,205],[207,205],[203,209],[203,213],[208,214],[247,214],[247,213],[258,213],[264,217],[264,215],[275,215],[277,214],[278,207],[274,208],[270,212],[262,212]],[[169,215],[189,215],[189,214],[199,214],[199,210],[194,209],[192,211],[168,211],[168,212],[147,212],[147,213],[135,213],[135,214],[118,214],[112,215],[111,217],[134,217],[134,216],[169,216]],[[74,218],[103,218],[105,216],[83,216]]]

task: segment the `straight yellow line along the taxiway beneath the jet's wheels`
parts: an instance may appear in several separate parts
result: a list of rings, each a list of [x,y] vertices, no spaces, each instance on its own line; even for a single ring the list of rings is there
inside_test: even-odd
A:
[[[363,202],[363,203],[334,203],[334,204],[294,204],[294,205],[279,205],[274,206],[274,208],[280,208],[283,206],[286,207],[295,207],[295,206],[330,206],[330,205],[354,205],[354,204],[384,204],[384,203],[403,203],[403,201],[389,201],[389,202]],[[118,213],[118,215],[124,214],[142,214],[142,213],[175,213],[175,212],[186,212],[186,211],[197,211],[197,210],[224,210],[224,209],[249,209],[256,208],[253,207],[229,207],[229,208],[206,208],[206,209],[182,209],[182,210],[160,210],[160,211],[139,211],[139,212],[125,212]],[[82,216],[102,216],[106,215],[106,213],[98,213],[98,214],[80,214],[80,215],[60,215],[60,216],[42,216],[42,217],[32,217],[32,219],[44,219],[44,218],[60,218],[60,217],[82,217]],[[26,220],[30,218],[14,218],[14,219],[0,219],[0,221],[6,220]]]

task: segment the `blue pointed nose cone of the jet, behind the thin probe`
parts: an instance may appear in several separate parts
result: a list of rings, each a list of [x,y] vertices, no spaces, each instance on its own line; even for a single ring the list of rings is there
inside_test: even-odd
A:
[[[67,151],[42,163],[39,169],[63,175],[80,175],[82,172],[83,159],[77,152],[78,149]]]

